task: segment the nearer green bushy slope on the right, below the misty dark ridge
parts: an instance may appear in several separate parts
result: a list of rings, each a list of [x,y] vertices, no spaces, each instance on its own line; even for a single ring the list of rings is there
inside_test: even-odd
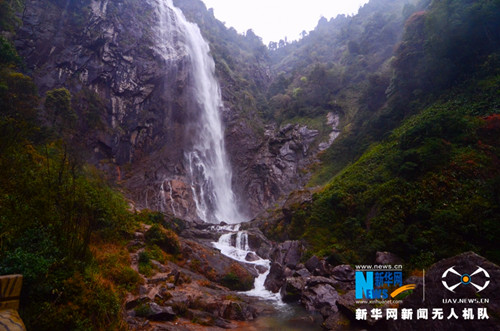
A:
[[[469,81],[410,117],[278,229],[337,263],[381,250],[418,267],[468,250],[500,261],[499,88],[498,74]]]

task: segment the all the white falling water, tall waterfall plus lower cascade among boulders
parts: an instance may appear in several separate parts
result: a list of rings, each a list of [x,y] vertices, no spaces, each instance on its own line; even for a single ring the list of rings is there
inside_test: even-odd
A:
[[[159,0],[158,8],[159,37],[162,41],[162,45],[159,45],[160,53],[165,60],[169,60],[179,49],[185,47],[190,56],[193,97],[198,103],[200,114],[197,118],[197,136],[193,137],[193,148],[185,153],[185,157],[197,214],[206,222],[233,224],[214,227],[217,231],[226,233],[213,245],[222,254],[236,261],[254,265],[259,276],[255,279],[254,289],[245,293],[281,302],[279,295],[267,291],[264,287],[270,261],[250,251],[248,234],[239,231],[238,223],[245,221],[245,218],[237,208],[231,188],[232,173],[225,153],[224,132],[219,114],[223,106],[222,98],[208,43],[203,39],[198,26],[188,22],[182,11],[173,5],[172,0]],[[169,193],[172,199],[171,188]],[[160,194],[164,199],[163,183]],[[175,209],[173,211],[175,212]],[[234,245],[233,236],[236,236]],[[249,261],[248,256],[253,256],[253,261]]]

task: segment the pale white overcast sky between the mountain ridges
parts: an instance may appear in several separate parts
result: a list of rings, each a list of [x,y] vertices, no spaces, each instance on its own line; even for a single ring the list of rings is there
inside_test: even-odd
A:
[[[368,0],[202,0],[215,17],[239,33],[252,29],[267,45],[270,41],[300,38],[324,16],[353,15]]]

